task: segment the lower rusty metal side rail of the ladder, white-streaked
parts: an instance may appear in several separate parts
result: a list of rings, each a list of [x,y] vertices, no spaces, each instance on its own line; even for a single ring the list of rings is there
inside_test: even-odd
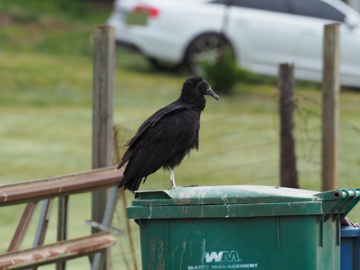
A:
[[[0,269],[28,269],[62,262],[105,251],[114,243],[115,238],[111,234],[102,232],[22,251],[8,252],[0,255]]]

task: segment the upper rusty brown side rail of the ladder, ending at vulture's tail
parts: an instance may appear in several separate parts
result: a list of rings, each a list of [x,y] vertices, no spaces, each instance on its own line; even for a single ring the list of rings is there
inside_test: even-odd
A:
[[[116,186],[122,180],[116,166],[77,174],[0,185],[0,206],[36,202]]]

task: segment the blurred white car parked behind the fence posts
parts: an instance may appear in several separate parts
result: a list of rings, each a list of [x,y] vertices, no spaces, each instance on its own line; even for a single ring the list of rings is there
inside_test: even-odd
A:
[[[341,84],[360,87],[360,15],[340,0],[117,0],[107,23],[119,44],[140,50],[157,66],[219,54],[222,35],[239,66],[276,76],[294,63],[295,77],[321,81],[324,25],[338,22]]]

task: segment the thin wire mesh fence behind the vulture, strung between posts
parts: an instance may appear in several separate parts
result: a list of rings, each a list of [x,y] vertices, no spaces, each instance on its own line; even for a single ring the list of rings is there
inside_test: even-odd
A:
[[[301,189],[321,191],[321,104],[295,95],[294,139],[298,181]],[[312,108],[312,109],[305,109]],[[248,95],[229,99],[226,103],[206,105],[201,116],[199,150],[190,153],[175,168],[178,186],[212,185],[280,185],[280,131],[277,95]],[[135,135],[145,120],[133,120],[114,127],[116,135],[115,157],[119,163],[125,152],[124,145]],[[339,175],[338,188],[357,188],[360,179],[360,129],[339,122]],[[149,175],[139,190],[167,189],[168,172],[159,170]],[[138,225],[127,222],[125,202],[131,205],[133,194],[121,193],[113,226],[131,233],[121,237],[112,248],[112,264],[116,269],[141,269]],[[359,206],[349,217],[360,221]],[[125,239],[126,238],[126,239]],[[132,242],[132,247],[130,246]]]

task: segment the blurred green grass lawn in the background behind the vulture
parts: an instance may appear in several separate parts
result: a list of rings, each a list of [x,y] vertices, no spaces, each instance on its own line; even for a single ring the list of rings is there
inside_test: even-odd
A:
[[[91,169],[91,35],[93,24],[103,23],[111,6],[99,8],[87,1],[70,0],[39,3],[0,0],[0,23],[3,24],[0,26],[1,184]],[[181,85],[188,76],[187,71],[154,71],[139,54],[117,49],[114,122],[136,130],[144,118],[178,98]],[[277,181],[276,104],[266,102],[267,97],[277,91],[274,82],[274,79],[266,84],[242,82],[234,87],[231,96],[217,93],[219,102],[208,99],[202,114],[199,152],[185,158],[184,169],[175,171],[179,185],[194,184],[194,181],[209,185],[249,184],[256,179],[270,183],[266,180],[270,176],[269,181]],[[318,84],[297,82],[296,93],[318,103],[321,101]],[[340,99],[340,118],[360,126],[359,92],[343,90]],[[319,104],[301,102],[300,105],[321,113]],[[242,114],[238,113],[239,108]],[[318,121],[312,116],[298,119]],[[311,138],[318,136],[319,126],[316,125],[318,122],[313,125],[314,133],[308,133]],[[299,140],[306,138],[299,137]],[[256,140],[270,143],[261,145]],[[232,151],[224,151],[229,148]],[[311,151],[317,150],[301,148],[299,154]],[[230,164],[230,160],[236,162]],[[262,166],[257,167],[258,164]],[[202,171],[198,170],[198,165]],[[311,171],[319,165],[303,161],[298,166],[301,171]],[[349,173],[356,177],[358,164],[353,168]],[[208,174],[201,174],[204,171]],[[304,186],[310,188],[312,185],[306,178],[320,177],[316,175],[314,172],[311,177],[303,177]],[[346,188],[359,185],[358,181],[353,181]],[[149,177],[141,189],[158,186],[167,188],[166,172],[160,171]],[[71,196],[69,237],[90,233],[84,223],[90,219],[90,205],[90,194]],[[0,234],[0,253],[6,251],[23,208],[24,205],[19,205],[0,209],[3,232]],[[32,245],[39,209],[22,248]],[[357,212],[354,216],[360,215]],[[45,242],[54,242],[55,234],[54,207]],[[68,269],[89,269],[87,258],[68,264]],[[40,269],[48,268],[53,269],[53,266]]]

